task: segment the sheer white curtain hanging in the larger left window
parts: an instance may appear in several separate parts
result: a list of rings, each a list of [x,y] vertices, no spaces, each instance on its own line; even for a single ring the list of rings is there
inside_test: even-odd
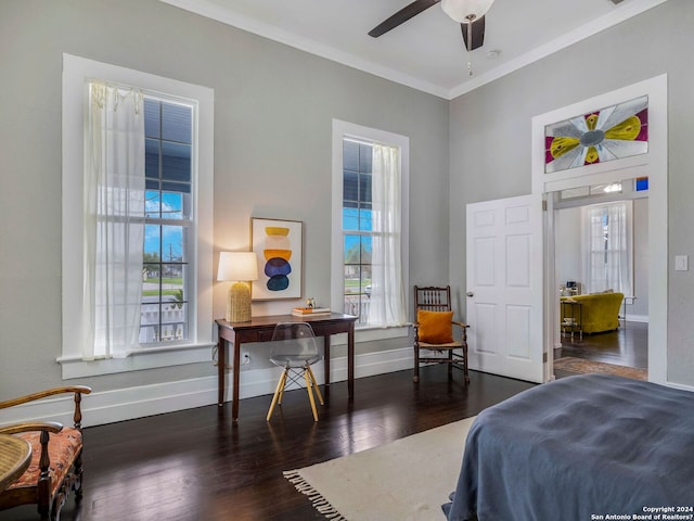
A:
[[[142,93],[89,84],[85,140],[82,358],[138,345],[144,243]]]

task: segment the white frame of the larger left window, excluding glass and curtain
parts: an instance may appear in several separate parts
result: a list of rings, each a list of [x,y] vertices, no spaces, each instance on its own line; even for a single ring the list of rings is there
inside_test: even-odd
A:
[[[196,276],[191,281],[189,341],[134,350],[125,358],[83,361],[80,322],[82,288],[82,173],[86,85],[90,78],[124,84],[152,92],[165,92],[197,101],[197,163],[193,165],[193,205],[196,223],[194,255]],[[213,183],[214,183],[214,90],[140,71],[119,67],[70,54],[63,54],[63,335],[57,361],[63,379],[134,371],[166,366],[209,361],[213,340]]]

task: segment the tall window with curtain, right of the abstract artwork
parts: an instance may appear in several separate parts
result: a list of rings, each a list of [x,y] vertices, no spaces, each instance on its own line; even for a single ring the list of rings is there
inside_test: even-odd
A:
[[[408,139],[334,122],[333,147],[332,306],[358,316],[361,327],[402,326]]]

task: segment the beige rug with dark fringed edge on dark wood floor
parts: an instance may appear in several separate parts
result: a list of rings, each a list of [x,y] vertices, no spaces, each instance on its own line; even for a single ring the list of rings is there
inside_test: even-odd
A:
[[[441,521],[474,419],[284,475],[332,521]]]

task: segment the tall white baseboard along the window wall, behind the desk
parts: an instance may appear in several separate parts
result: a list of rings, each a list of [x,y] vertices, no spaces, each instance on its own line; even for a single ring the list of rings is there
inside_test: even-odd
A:
[[[355,357],[355,378],[412,369],[413,363],[412,347],[357,355]],[[314,369],[316,379],[322,383],[324,381],[323,365],[317,364]],[[279,378],[280,370],[278,368],[244,370],[241,374],[239,390],[241,398],[274,393]],[[347,380],[347,358],[331,359],[331,382],[345,380]],[[226,386],[227,399],[231,399],[231,373],[227,376]],[[355,392],[358,393],[358,382],[355,389]],[[216,403],[216,376],[113,391],[97,391],[82,397],[82,427],[131,420]],[[72,395],[47,398],[4,409],[0,423],[51,420],[72,425],[73,406]]]

